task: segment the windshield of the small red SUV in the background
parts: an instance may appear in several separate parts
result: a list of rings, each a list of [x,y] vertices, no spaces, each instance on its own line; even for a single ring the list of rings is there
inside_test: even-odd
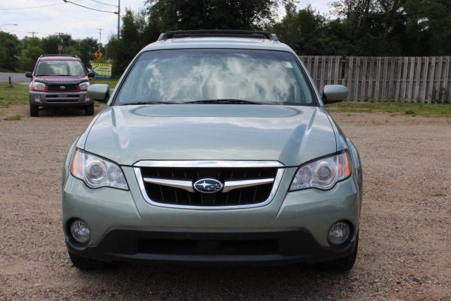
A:
[[[40,61],[35,76],[84,76],[80,61]]]

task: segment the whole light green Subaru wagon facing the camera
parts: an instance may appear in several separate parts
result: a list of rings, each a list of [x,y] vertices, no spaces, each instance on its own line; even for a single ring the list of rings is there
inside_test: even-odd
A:
[[[162,34],[68,152],[78,269],[115,261],[354,265],[362,166],[290,47],[268,32]]]

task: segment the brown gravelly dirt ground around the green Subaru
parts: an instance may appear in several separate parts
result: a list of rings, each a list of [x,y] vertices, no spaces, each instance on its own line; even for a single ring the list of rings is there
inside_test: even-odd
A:
[[[98,110],[99,108],[97,108]],[[20,113],[20,121],[4,121]],[[334,113],[364,165],[359,255],[309,266],[132,266],[81,272],[61,231],[61,166],[92,117],[0,111],[0,299],[451,299],[451,120]]]

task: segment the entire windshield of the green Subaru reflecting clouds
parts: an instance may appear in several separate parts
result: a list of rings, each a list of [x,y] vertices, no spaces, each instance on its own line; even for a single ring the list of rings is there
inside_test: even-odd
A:
[[[144,52],[128,73],[115,104],[226,103],[228,99],[242,104],[316,106],[295,56],[253,49]]]

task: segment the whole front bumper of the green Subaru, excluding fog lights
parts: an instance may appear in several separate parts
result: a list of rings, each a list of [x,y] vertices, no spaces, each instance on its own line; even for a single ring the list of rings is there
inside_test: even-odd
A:
[[[98,260],[138,262],[313,263],[347,256],[359,231],[357,177],[328,191],[288,192],[296,169],[285,169],[276,196],[266,206],[211,211],[147,203],[131,167],[123,166],[130,191],[92,190],[66,171],[63,226],[68,250]],[[88,245],[79,245],[68,235],[73,219],[89,224]],[[327,234],[333,223],[342,220],[352,225],[352,237],[345,245],[333,247]],[[253,242],[267,248],[254,250]],[[249,245],[250,250],[242,247]]]

